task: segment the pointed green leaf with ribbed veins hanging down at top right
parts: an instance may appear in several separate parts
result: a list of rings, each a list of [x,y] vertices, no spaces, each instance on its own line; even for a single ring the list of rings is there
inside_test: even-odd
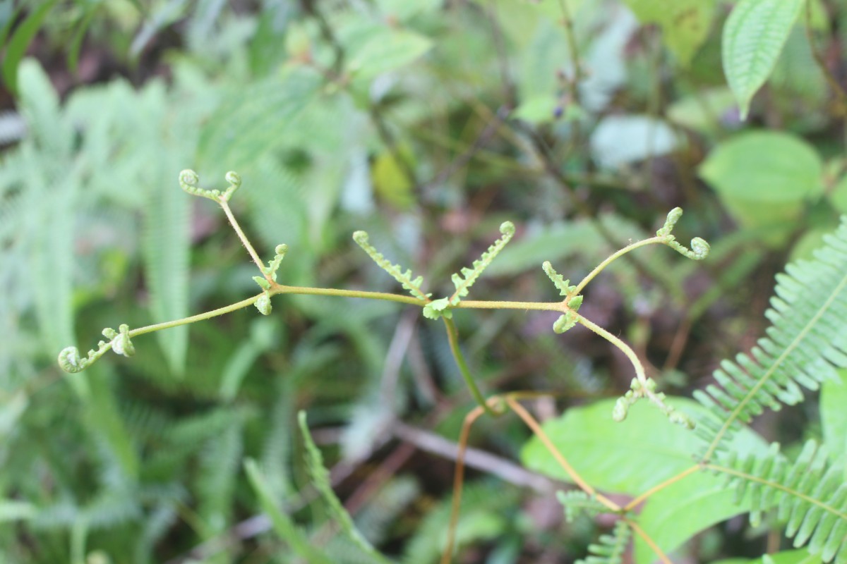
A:
[[[747,118],[750,100],[777,63],[804,0],[741,0],[723,27],[723,72]]]

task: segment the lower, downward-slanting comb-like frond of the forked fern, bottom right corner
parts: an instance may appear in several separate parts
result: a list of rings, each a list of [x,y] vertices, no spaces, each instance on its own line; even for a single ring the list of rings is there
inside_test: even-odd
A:
[[[756,524],[761,512],[778,507],[785,521],[785,534],[794,537],[794,547],[808,544],[811,554],[825,562],[847,562],[847,483],[844,468],[828,462],[826,452],[815,441],[807,441],[793,464],[772,445],[767,457],[733,455],[726,463],[706,468],[728,477],[736,500],[750,496],[750,521]]]

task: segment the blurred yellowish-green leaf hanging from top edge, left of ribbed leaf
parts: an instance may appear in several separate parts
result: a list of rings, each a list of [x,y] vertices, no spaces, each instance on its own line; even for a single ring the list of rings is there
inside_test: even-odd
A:
[[[683,66],[709,36],[715,0],[624,0],[643,24],[662,28],[662,38]]]

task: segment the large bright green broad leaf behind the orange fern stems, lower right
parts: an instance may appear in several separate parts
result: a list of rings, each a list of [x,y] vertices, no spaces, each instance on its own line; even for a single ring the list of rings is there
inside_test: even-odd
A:
[[[543,425],[559,452],[590,485],[637,496],[694,466],[692,455],[698,443],[689,430],[669,424],[647,402],[636,403],[627,419],[615,423],[614,402],[571,408]],[[671,397],[668,402],[689,413],[706,413],[683,397]],[[739,452],[767,452],[767,443],[750,430],[735,435],[733,446]],[[535,437],[523,446],[521,460],[528,468],[570,481]],[[651,496],[639,524],[663,550],[673,550],[693,534],[745,511],[743,505],[733,503],[732,490],[722,484],[720,477],[711,474],[690,474]],[[646,547],[636,550],[640,556],[650,554]]]

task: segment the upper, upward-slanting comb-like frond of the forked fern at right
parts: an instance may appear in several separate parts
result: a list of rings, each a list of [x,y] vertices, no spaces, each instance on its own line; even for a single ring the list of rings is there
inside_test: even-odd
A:
[[[717,415],[703,419],[698,434],[707,443],[708,462],[741,423],[764,408],[777,410],[803,399],[800,386],[817,390],[819,382],[836,378],[835,367],[847,366],[847,217],[824,238],[814,260],[790,264],[777,276],[772,322],[767,337],[735,362],[724,360],[715,371],[716,385],[695,397]]]

